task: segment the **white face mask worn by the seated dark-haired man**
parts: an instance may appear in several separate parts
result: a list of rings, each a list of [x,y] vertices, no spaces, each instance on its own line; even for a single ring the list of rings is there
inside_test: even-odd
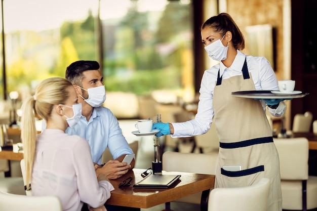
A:
[[[77,87],[79,87],[79,86],[77,86]],[[79,88],[81,88],[81,87],[79,87]],[[85,90],[84,88],[81,88],[81,89]],[[106,90],[105,90],[104,86],[89,88],[86,91],[88,92],[88,99],[83,98],[83,96],[81,96],[81,95],[79,95],[79,96],[81,96],[92,107],[99,107],[106,100]]]

